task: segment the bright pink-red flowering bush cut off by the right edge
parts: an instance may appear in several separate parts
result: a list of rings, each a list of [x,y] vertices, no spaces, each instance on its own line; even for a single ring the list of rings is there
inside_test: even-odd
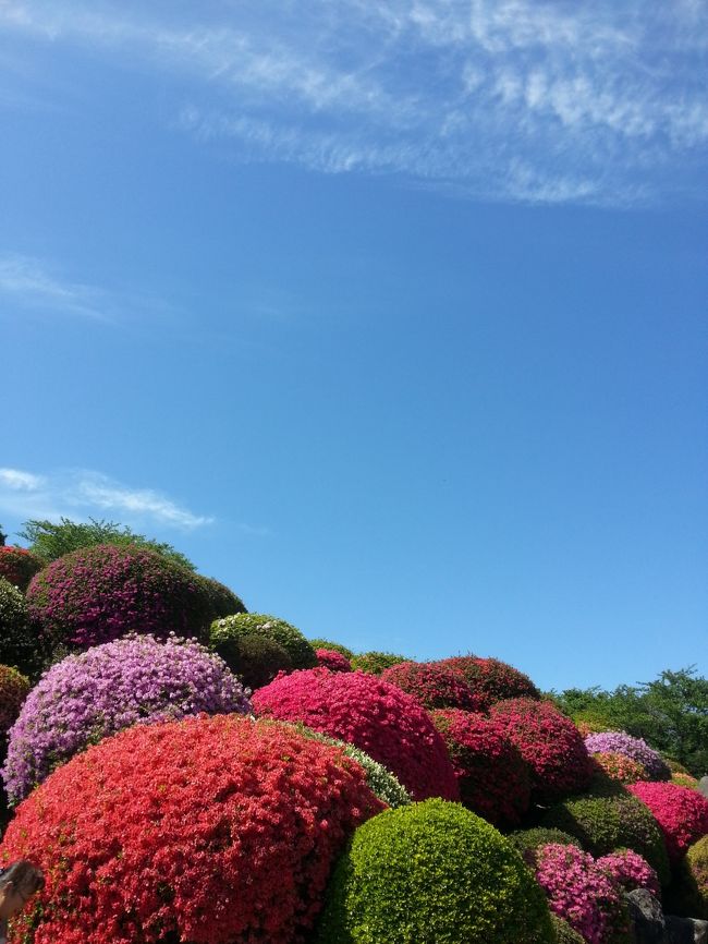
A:
[[[675,784],[632,784],[630,789],[650,810],[663,834],[669,859],[678,862],[696,839],[708,833],[708,800]]]

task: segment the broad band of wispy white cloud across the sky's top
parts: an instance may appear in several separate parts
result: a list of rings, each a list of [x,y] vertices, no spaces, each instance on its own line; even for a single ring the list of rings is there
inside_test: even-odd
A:
[[[696,0],[254,0],[198,22],[164,4],[9,0],[3,20],[179,75],[179,126],[230,140],[240,159],[524,202],[699,193]]]

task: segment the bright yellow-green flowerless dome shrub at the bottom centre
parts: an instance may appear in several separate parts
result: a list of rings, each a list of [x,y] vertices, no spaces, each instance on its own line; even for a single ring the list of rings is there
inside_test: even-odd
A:
[[[318,944],[551,944],[548,906],[516,850],[457,803],[387,810],[337,863]]]

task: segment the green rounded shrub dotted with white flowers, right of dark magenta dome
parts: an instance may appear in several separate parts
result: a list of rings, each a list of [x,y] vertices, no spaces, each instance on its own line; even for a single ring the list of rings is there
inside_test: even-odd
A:
[[[302,632],[284,619],[260,613],[240,613],[211,624],[210,644],[233,671],[239,671],[240,641],[245,637],[270,639],[288,653],[292,668],[313,668],[317,665],[315,650]],[[289,670],[283,666],[284,670]]]

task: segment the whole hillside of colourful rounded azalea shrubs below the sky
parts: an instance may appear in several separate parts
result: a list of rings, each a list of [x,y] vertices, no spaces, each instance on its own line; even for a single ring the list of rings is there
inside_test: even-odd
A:
[[[314,639],[112,523],[24,536],[0,864],[46,882],[10,944],[706,944],[692,668],[544,693]]]

